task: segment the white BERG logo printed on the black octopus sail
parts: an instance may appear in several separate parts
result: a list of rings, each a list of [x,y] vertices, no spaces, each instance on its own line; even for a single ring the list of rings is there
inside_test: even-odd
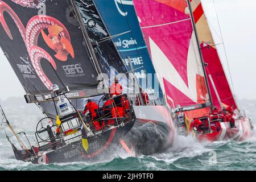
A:
[[[80,64],[64,65],[62,66],[67,77],[81,77],[85,76]]]

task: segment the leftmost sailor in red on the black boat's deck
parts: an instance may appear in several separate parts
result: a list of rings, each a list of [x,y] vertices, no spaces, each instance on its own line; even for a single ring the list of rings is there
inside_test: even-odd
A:
[[[98,121],[96,121],[98,119],[98,105],[95,102],[92,102],[92,100],[88,100],[87,104],[85,105],[85,109],[84,112],[82,114],[86,114],[87,111],[89,110],[89,116],[93,121],[93,125],[95,127],[96,130],[100,130],[101,126],[100,123]]]

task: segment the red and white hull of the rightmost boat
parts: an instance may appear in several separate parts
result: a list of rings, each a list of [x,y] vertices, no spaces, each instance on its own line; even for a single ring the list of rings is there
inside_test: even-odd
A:
[[[248,118],[242,118],[236,120],[236,128],[230,128],[229,122],[222,122],[220,131],[201,134],[197,138],[200,141],[208,140],[210,142],[220,141],[220,140],[237,140],[242,141],[249,137],[252,133],[253,126]]]

